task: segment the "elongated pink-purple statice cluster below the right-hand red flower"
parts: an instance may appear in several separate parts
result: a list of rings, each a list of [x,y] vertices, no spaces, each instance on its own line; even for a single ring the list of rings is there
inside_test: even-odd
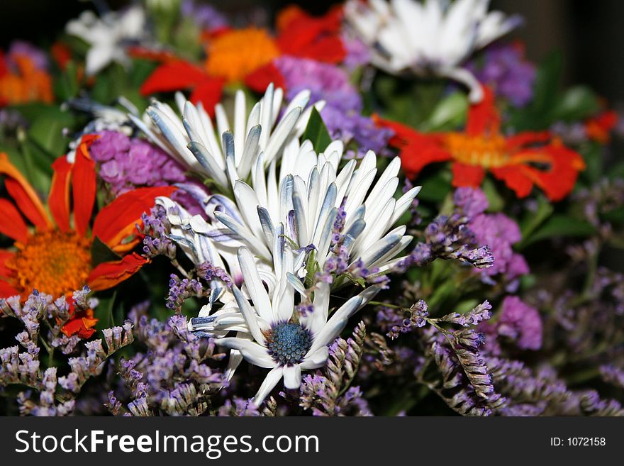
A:
[[[453,195],[455,206],[468,218],[467,226],[481,245],[488,245],[496,258],[494,265],[481,271],[486,282],[497,274],[505,275],[513,282],[521,275],[528,274],[529,268],[524,257],[513,251],[513,244],[522,239],[518,224],[503,213],[484,213],[488,201],[481,189],[459,188]],[[511,284],[513,289],[514,284]]]

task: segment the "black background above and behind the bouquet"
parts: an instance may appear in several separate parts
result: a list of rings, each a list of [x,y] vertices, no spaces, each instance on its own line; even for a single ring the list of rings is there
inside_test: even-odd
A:
[[[78,0],[2,0],[0,47],[13,38],[50,43],[65,23],[80,11],[92,8]],[[108,0],[113,7],[128,0]],[[269,13],[296,3],[312,13],[323,13],[331,0],[228,0],[213,1],[224,11],[236,13],[262,6]],[[540,60],[552,50],[565,57],[564,84],[585,83],[624,107],[624,1],[621,0],[494,0],[494,9],[520,13],[525,25],[514,35],[527,44],[530,60]]]

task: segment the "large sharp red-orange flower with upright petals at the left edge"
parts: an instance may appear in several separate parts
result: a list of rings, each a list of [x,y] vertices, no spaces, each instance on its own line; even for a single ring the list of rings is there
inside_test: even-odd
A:
[[[89,231],[96,197],[95,163],[89,145],[96,137],[82,138],[74,163],[62,156],[52,164],[54,176],[48,195],[51,216],[9,157],[0,153],[0,174],[4,174],[4,186],[14,201],[0,199],[0,233],[15,241],[15,250],[0,250],[0,298],[20,295],[26,299],[33,289],[52,296],[70,296],[85,284],[94,290],[107,289],[138,272],[147,262],[142,255],[131,252],[140,241],[136,225],[157,196],[168,196],[175,188],[140,188],[122,194],[99,211]],[[34,231],[24,218],[33,224]],[[96,238],[120,255],[119,260],[94,267],[91,245]],[[75,317],[84,326],[94,323],[89,311],[78,314]],[[76,319],[62,328],[67,335],[89,330],[74,322]]]

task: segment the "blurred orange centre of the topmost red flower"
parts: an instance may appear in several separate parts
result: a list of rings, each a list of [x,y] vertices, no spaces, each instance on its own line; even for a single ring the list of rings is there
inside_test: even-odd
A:
[[[207,53],[208,74],[237,82],[279,56],[279,49],[266,30],[245,28],[218,35]]]

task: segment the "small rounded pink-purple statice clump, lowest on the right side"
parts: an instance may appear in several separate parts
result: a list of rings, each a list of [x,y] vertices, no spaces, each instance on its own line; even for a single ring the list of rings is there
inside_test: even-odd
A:
[[[518,348],[523,350],[539,350],[542,346],[540,313],[518,296],[506,296],[503,299],[496,331],[498,335],[515,340]]]

